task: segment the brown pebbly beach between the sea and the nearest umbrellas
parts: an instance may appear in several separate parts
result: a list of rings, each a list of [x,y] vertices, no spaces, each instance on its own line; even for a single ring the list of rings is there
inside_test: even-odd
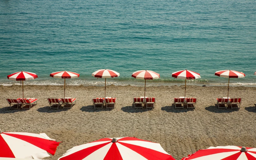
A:
[[[198,98],[195,109],[175,109],[173,98],[184,96],[183,86],[147,87],[146,96],[156,97],[154,109],[134,108],[133,97],[144,95],[143,87],[107,86],[106,95],[116,97],[114,109],[94,109],[92,98],[103,97],[104,87],[66,86],[66,96],[77,98],[71,109],[50,109],[48,97],[62,97],[63,86],[25,85],[24,96],[38,98],[31,109],[9,109],[6,98],[22,97],[19,85],[0,86],[0,128],[10,132],[46,133],[63,143],[56,160],[67,150],[106,137],[136,137],[160,143],[175,159],[210,146],[256,147],[254,87],[230,87],[230,97],[241,97],[238,109],[218,109],[217,97],[227,96],[227,87],[187,86],[187,97]]]

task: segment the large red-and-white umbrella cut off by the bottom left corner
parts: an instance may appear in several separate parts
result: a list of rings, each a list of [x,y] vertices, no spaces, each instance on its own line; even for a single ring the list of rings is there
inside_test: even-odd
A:
[[[42,159],[54,155],[60,142],[45,133],[2,132],[0,130],[0,157]]]

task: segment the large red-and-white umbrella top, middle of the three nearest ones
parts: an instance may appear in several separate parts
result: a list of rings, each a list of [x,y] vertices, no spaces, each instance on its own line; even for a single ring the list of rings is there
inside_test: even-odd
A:
[[[68,150],[58,160],[175,160],[158,143],[134,138],[102,138]]]

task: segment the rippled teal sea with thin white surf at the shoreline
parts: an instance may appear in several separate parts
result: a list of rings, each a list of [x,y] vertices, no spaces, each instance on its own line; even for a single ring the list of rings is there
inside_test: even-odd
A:
[[[190,85],[226,85],[215,71],[236,70],[238,86],[256,86],[256,1],[254,0],[1,0],[0,84],[19,84],[7,75],[38,75],[25,84],[62,85],[49,77],[73,71],[69,85],[103,85],[91,76],[112,69],[107,84],[144,85],[131,77],[147,69],[160,74],[148,85],[182,85],[172,72],[201,74]]]

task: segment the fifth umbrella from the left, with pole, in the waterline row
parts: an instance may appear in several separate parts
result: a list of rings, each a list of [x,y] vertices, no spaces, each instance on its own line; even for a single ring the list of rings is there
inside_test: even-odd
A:
[[[187,85],[187,79],[197,79],[201,78],[200,74],[197,72],[189,71],[189,70],[182,70],[172,73],[172,77],[178,78],[178,79],[185,79],[185,96],[186,98],[186,85]]]

